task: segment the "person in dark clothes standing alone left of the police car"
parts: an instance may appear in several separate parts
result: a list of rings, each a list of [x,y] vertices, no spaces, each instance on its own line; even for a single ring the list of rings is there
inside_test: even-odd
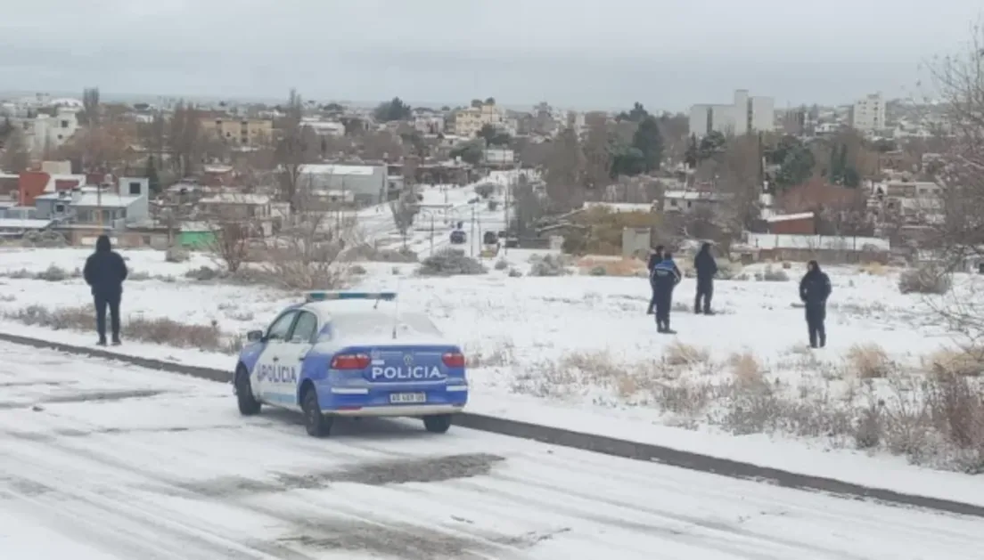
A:
[[[83,276],[92,286],[95,304],[95,330],[99,333],[99,346],[106,345],[106,308],[113,334],[113,345],[120,344],[120,300],[123,298],[123,281],[126,280],[126,262],[113,251],[109,236],[100,235],[95,240],[95,252],[86,259]]]

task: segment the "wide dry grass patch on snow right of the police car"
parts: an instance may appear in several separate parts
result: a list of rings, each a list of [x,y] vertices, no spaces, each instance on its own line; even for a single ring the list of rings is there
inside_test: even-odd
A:
[[[825,369],[812,356],[798,366],[827,380],[792,386],[769,378],[751,352],[712,364],[706,350],[683,344],[668,349],[672,359],[662,361],[626,363],[599,352],[524,365],[512,388],[601,406],[653,408],[671,415],[666,422],[685,427],[709,423],[734,434],[824,438],[835,446],[887,450],[920,465],[984,473],[984,401],[977,379],[940,371],[883,378],[895,371],[883,349],[851,350],[845,362],[864,382],[850,383],[846,394],[844,370],[828,375],[827,369],[834,371],[830,364]],[[945,356],[951,355],[937,356],[936,363],[944,363]],[[695,374],[701,368],[724,374]]]

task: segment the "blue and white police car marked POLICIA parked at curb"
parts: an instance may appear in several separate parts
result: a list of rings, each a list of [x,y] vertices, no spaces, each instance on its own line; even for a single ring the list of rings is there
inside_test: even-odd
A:
[[[468,400],[461,348],[394,292],[309,292],[247,334],[233,385],[239,412],[304,414],[310,435],[338,417],[416,417],[444,433]]]

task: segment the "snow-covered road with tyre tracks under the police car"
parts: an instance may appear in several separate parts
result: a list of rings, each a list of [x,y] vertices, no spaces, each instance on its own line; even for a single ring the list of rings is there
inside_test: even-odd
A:
[[[412,420],[240,418],[225,385],[0,344],[0,558],[979,558],[980,520]]]

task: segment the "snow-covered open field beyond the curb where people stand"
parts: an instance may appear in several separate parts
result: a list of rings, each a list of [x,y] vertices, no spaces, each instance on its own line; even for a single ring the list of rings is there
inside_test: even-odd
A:
[[[0,312],[30,306],[91,306],[81,279],[46,282],[10,277],[40,272],[52,264],[71,270],[87,254],[83,250],[0,251]],[[135,278],[141,273],[151,277],[127,282],[124,314],[128,317],[215,323],[223,332],[241,335],[265,325],[277,310],[298,298],[267,288],[184,279],[185,271],[210,264],[203,255],[174,264],[164,262],[159,252],[124,254]],[[526,271],[529,256],[530,252],[510,251],[509,267]],[[640,278],[515,278],[486,262],[488,274],[435,279],[414,276],[414,266],[409,264],[364,264],[368,273],[363,287],[397,289],[407,308],[425,309],[461,340],[474,361],[470,405],[474,412],[984,504],[984,489],[972,477],[929,472],[907,465],[902,458],[879,454],[873,459],[870,451],[850,450],[855,446],[852,426],[844,425],[836,414],[848,397],[857,404],[869,397],[892,403],[896,395],[904,396],[907,387],[925,378],[915,368],[919,357],[951,340],[935,324],[935,315],[925,310],[921,297],[897,293],[895,272],[869,275],[852,268],[831,269],[830,346],[808,352],[803,310],[792,307],[797,300],[795,278],[802,273],[798,266],[786,271],[793,277],[787,282],[717,282],[714,307],[720,313],[678,311],[673,321],[680,334],[665,337],[654,332],[651,317],[644,312],[647,286]],[[761,267],[750,269],[753,277],[756,269]],[[688,305],[693,289],[693,281],[684,280],[678,288],[679,303]],[[92,332],[52,332],[13,320],[0,321],[0,330],[80,345],[93,340]],[[690,364],[670,361],[679,358],[677,342],[691,345],[698,354],[706,351],[707,358],[697,356]],[[869,342],[913,369],[892,372],[890,379],[860,379],[845,357],[852,345]],[[233,365],[228,355],[132,341],[119,352],[217,368]],[[745,353],[754,357],[758,372],[750,371],[742,359]],[[747,397],[735,387],[756,381],[757,376],[767,381],[769,394],[787,397],[780,401],[786,408],[776,413],[752,406],[758,404],[753,401],[746,409],[722,410],[719,402],[727,397]],[[720,386],[730,387],[731,392],[714,389]],[[831,443],[837,445],[831,449]],[[941,455],[923,462],[950,459]]]

